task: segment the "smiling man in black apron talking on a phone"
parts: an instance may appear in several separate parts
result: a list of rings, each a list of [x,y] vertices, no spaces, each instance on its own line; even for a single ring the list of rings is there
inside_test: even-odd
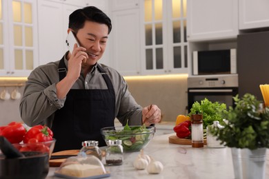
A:
[[[48,125],[57,142],[54,151],[80,149],[83,140],[98,140],[100,129],[114,126],[114,118],[126,125],[146,125],[161,120],[157,105],[142,107],[128,91],[122,76],[97,63],[106,50],[110,19],[95,7],[70,14],[68,33],[77,44],[61,61],[32,71],[21,98],[21,118],[26,125]]]

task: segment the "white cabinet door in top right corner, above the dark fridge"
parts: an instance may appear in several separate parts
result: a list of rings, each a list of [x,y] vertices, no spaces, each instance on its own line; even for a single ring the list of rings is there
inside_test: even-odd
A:
[[[269,26],[268,0],[239,0],[239,29],[266,28]]]

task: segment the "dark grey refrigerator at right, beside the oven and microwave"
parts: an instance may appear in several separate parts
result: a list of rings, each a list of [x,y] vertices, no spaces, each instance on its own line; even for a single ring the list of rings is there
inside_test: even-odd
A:
[[[237,37],[239,96],[250,93],[263,101],[259,85],[269,83],[269,32],[251,32]]]

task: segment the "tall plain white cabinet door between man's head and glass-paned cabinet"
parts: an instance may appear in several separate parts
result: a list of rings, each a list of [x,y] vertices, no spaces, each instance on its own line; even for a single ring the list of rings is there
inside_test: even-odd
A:
[[[140,73],[139,10],[112,12],[113,67],[122,75]]]

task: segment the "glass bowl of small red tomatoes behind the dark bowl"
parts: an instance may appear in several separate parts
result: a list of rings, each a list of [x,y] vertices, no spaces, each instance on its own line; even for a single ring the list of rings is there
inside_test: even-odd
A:
[[[28,140],[28,143],[21,142],[12,145],[21,152],[37,151],[41,154],[48,154],[50,158],[55,142],[56,140],[54,138],[45,142],[39,142],[36,138],[31,138]]]

